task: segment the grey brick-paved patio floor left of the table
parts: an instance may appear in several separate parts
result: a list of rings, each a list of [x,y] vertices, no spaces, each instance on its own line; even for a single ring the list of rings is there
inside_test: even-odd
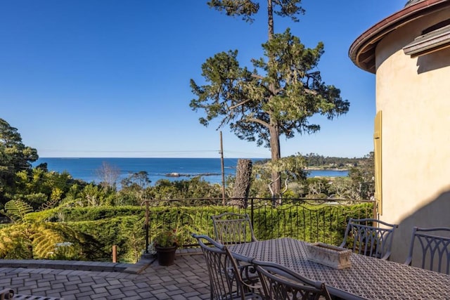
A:
[[[70,299],[209,299],[209,278],[201,252],[178,253],[175,264],[154,259],[136,264],[0,259],[0,290]],[[50,261],[52,263],[52,261]],[[86,270],[89,269],[89,270]],[[114,271],[115,270],[115,271]]]

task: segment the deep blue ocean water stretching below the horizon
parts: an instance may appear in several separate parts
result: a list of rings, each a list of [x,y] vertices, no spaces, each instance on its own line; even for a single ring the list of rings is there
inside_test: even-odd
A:
[[[253,162],[261,160],[252,159]],[[193,176],[202,176],[210,183],[221,183],[221,159],[220,158],[61,158],[41,157],[32,165],[47,163],[49,171],[62,173],[67,171],[73,178],[82,179],[86,182],[100,181],[98,171],[103,162],[120,171],[119,181],[127,178],[129,174],[139,171],[147,171],[151,185],[160,179],[169,181],[188,180]],[[238,158],[224,158],[224,174],[236,175],[236,164]],[[169,174],[179,174],[177,177]],[[309,176],[347,176],[347,171],[310,171]]]

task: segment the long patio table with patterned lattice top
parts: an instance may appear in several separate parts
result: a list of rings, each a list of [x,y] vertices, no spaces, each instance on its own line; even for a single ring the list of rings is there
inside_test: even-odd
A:
[[[335,269],[307,258],[307,242],[283,237],[229,246],[231,252],[286,266],[325,282],[343,299],[450,299],[450,275],[351,254],[352,266]]]

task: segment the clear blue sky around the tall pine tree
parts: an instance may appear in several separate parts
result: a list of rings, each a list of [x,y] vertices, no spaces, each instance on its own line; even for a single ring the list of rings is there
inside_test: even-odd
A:
[[[212,10],[207,0],[0,0],[0,118],[40,157],[219,157],[217,124],[200,125],[189,80],[215,53],[262,57],[266,1],[257,20]],[[406,0],[304,0],[300,22],[275,19],[307,47],[325,45],[319,70],[350,110],[321,131],[281,137],[281,155],[362,157],[373,150],[375,75],[349,46]],[[270,157],[222,131],[224,157]]]

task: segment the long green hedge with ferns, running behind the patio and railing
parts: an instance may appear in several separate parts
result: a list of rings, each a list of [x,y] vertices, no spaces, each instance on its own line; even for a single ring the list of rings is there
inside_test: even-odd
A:
[[[371,214],[372,204],[305,204],[289,202],[273,207],[270,200],[255,203],[252,218],[255,235],[260,240],[295,237],[309,242],[338,244],[342,240],[347,219]],[[195,244],[191,233],[214,236],[212,215],[225,211],[246,212],[219,205],[149,207],[149,237],[174,231],[179,245]],[[139,259],[145,249],[145,209],[143,207],[104,207],[60,209],[69,222],[44,221],[58,216],[58,209],[25,214],[24,223],[0,228],[0,258],[42,259],[67,256],[68,259],[96,260],[110,257],[113,245],[118,254],[131,261]],[[73,214],[68,211],[73,210]],[[88,212],[96,211],[89,214]],[[86,218],[89,215],[89,220]],[[77,218],[75,218],[77,217]],[[81,220],[81,221],[80,221]],[[88,221],[89,220],[89,221]],[[70,252],[60,253],[56,244],[72,243]],[[69,248],[64,248],[69,250]]]

